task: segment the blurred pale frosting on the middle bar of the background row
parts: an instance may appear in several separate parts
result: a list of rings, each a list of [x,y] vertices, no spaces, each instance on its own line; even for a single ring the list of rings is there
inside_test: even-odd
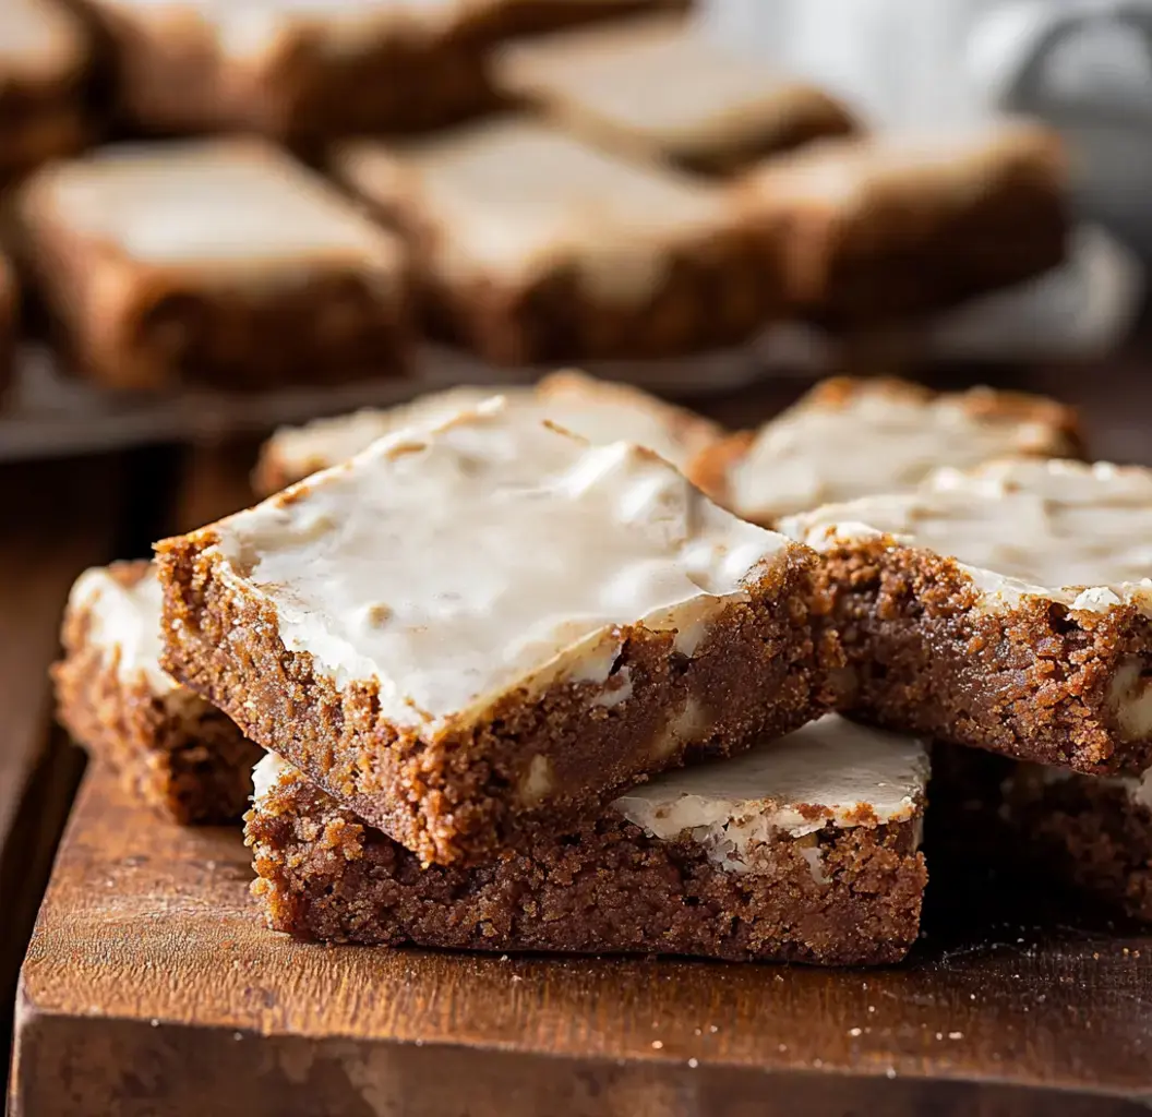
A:
[[[415,207],[449,279],[523,284],[575,268],[602,298],[638,302],[672,252],[730,226],[720,192],[632,165],[529,117],[502,117],[400,147],[338,158],[365,198]]]

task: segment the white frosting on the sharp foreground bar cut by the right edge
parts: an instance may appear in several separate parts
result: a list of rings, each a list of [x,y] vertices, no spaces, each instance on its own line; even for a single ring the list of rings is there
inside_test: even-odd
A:
[[[1005,461],[940,470],[914,493],[829,504],[781,530],[817,549],[833,538],[899,537],[957,558],[992,603],[1036,594],[1152,616],[1152,470]]]

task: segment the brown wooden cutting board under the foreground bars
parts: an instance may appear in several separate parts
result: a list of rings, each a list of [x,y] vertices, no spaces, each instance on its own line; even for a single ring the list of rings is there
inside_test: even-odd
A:
[[[89,774],[22,971],[17,1117],[1119,1117],[1152,1100],[1152,939],[976,919],[952,888],[910,963],[821,971],[301,944],[262,926],[250,875],[237,831],[161,822]]]

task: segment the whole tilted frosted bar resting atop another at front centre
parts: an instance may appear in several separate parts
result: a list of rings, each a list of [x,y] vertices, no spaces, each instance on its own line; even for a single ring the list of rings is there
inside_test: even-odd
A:
[[[499,398],[158,552],[166,668],[425,861],[829,698],[808,548]]]

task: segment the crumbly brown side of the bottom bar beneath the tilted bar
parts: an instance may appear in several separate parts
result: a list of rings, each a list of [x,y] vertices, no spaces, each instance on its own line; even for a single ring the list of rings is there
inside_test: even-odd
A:
[[[718,868],[611,812],[525,834],[487,865],[433,866],[303,778],[247,816],[268,926],[304,939],[470,950],[698,955],[821,965],[899,962],[926,881],[916,822],[826,827],[772,846],[771,874]],[[804,856],[819,848],[826,883]]]

